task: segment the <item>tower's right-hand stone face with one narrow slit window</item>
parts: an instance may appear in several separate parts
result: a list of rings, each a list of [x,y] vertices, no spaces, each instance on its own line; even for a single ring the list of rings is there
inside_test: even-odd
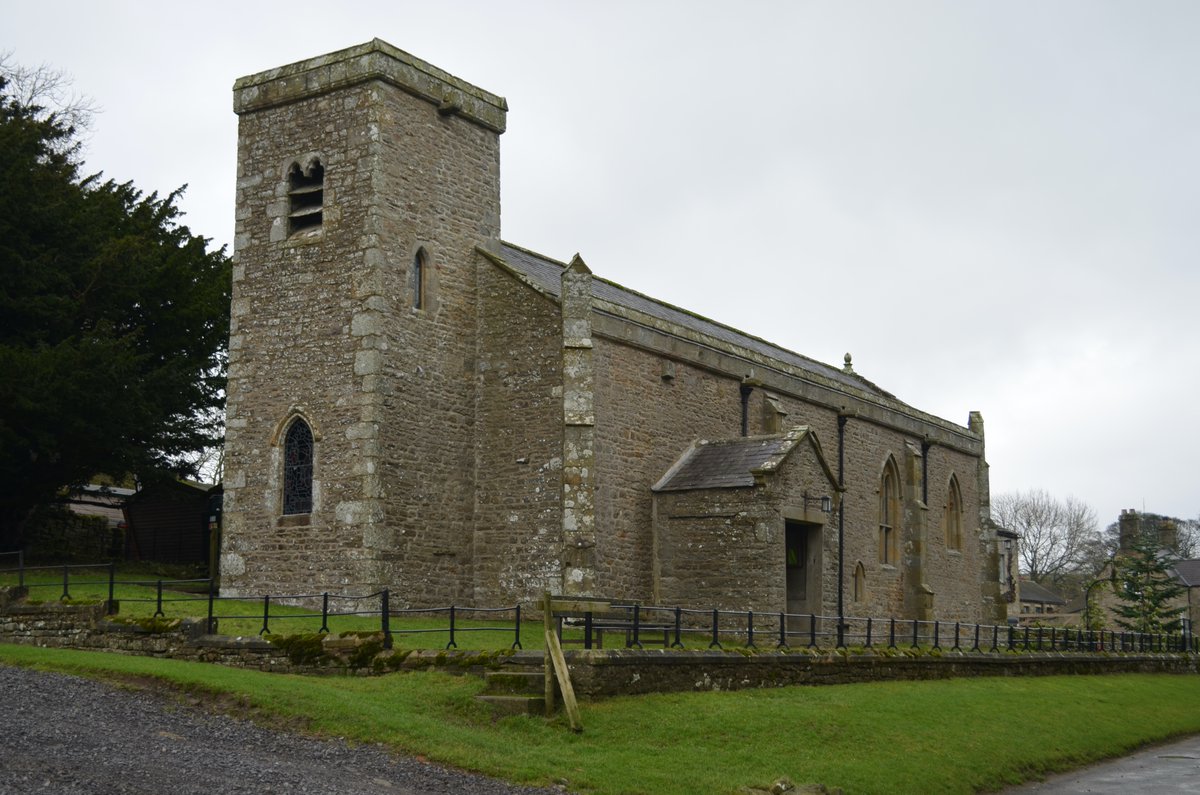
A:
[[[383,347],[374,377],[384,521],[382,576],[425,604],[469,602],[476,495],[475,246],[499,239],[499,136],[390,85],[379,97]],[[425,295],[412,263],[424,250]]]

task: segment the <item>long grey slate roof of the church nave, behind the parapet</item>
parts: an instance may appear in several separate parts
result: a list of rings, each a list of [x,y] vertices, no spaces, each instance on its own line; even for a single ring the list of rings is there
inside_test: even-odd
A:
[[[565,265],[548,257],[534,253],[526,249],[520,249],[508,243],[500,244],[500,258],[514,270],[536,285],[540,289],[558,297],[562,291],[563,270]],[[744,334],[728,325],[722,325],[698,315],[692,315],[685,310],[670,304],[649,298],[620,285],[606,281],[598,276],[592,280],[592,295],[596,299],[624,306],[626,309],[642,312],[660,321],[666,321],[676,325],[697,331],[709,337],[737,345],[742,348],[754,351],[761,355],[770,357],[778,361],[817,373],[838,383],[842,383],[856,389],[862,389],[884,398],[895,398],[889,391],[880,389],[877,385],[852,372],[846,372],[839,367],[822,364],[815,359],[800,355],[778,345],[772,345],[766,340]]]

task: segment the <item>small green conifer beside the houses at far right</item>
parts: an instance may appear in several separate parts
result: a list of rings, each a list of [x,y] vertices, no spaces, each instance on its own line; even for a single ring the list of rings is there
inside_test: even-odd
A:
[[[1117,624],[1145,633],[1182,628],[1183,608],[1175,602],[1184,588],[1172,572],[1174,564],[1172,552],[1158,545],[1154,533],[1139,533],[1134,538],[1130,549],[1115,561],[1117,604],[1112,611]]]

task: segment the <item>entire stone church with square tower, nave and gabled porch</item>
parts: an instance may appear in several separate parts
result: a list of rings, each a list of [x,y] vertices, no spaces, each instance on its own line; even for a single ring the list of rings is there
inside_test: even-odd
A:
[[[1003,618],[982,418],[504,241],[503,97],[376,40],[234,109],[223,593]]]

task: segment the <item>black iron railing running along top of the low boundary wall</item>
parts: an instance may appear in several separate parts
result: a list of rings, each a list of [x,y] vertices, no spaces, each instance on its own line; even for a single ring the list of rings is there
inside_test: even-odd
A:
[[[329,632],[332,617],[370,617],[379,620],[379,632],[384,645],[392,646],[395,634],[449,633],[446,648],[457,648],[457,636],[462,633],[508,633],[511,647],[521,648],[521,605],[511,608],[466,608],[458,605],[439,608],[394,608],[391,593],[384,588],[367,594],[294,593],[222,597],[211,579],[190,580],[119,580],[114,563],[25,566],[20,552],[0,552],[16,557],[17,566],[0,569],[2,574],[16,574],[20,587],[31,593],[48,588],[58,593],[58,599],[70,600],[72,585],[86,584],[104,590],[107,609],[114,612],[116,586],[140,586],[154,588],[154,597],[130,597],[126,603],[154,604],[154,616],[166,617],[168,605],[179,616],[196,616],[198,610],[180,608],[181,604],[204,602],[208,630],[216,632],[221,620],[262,621],[258,634],[271,632],[272,622],[320,618],[318,633]],[[103,572],[102,578],[95,575]],[[52,576],[30,579],[30,573],[49,573]],[[89,576],[90,574],[90,576]],[[187,593],[186,591],[191,591]],[[253,614],[217,615],[218,602],[239,604],[260,600],[262,610]],[[300,605],[320,605],[307,612],[294,612]],[[272,614],[272,606],[276,612]],[[278,608],[288,606],[288,611]],[[392,629],[391,620],[402,617],[444,616],[432,627],[409,626]],[[503,620],[511,616],[511,623]],[[464,621],[472,626],[464,626]],[[478,626],[485,624],[485,626]],[[647,638],[661,639],[664,646],[724,648],[737,645],[749,648],[851,648],[864,650],[928,650],[932,652],[1153,652],[1200,653],[1200,639],[1190,633],[1135,633],[1123,630],[1076,629],[1070,627],[1016,627],[1015,624],[970,623],[961,621],[923,621],[916,618],[874,618],[846,616],[840,622],[834,616],[817,614],[755,612],[752,610],[722,610],[718,608],[695,609],[682,606],[643,605],[636,602],[612,604],[610,612],[593,620],[582,618],[578,627],[583,632],[586,647],[593,646],[593,638],[602,632],[622,632],[625,647],[642,648]]]

